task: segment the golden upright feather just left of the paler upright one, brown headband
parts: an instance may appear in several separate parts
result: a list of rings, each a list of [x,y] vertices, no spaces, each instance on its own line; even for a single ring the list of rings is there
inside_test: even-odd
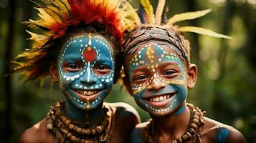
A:
[[[141,5],[143,6],[146,14],[148,15],[149,24],[154,24],[154,14],[153,14],[153,6],[151,6],[149,0],[140,0]]]

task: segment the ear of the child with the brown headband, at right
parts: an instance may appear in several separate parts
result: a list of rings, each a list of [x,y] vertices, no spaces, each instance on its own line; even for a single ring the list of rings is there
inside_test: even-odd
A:
[[[187,87],[189,89],[193,89],[194,86],[196,85],[196,79],[197,79],[197,67],[196,67],[196,64],[189,64],[187,75],[188,75]]]

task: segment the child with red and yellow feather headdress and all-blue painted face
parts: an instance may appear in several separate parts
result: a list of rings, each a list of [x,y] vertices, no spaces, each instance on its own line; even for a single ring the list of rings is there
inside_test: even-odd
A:
[[[140,122],[133,107],[103,102],[118,79],[122,27],[119,1],[42,1],[37,33],[19,54],[14,72],[28,79],[51,75],[65,102],[27,129],[19,142],[125,142]],[[123,9],[124,11],[125,9]]]

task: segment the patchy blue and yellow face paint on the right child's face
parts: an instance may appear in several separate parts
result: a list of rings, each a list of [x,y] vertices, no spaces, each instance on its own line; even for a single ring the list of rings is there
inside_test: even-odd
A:
[[[134,55],[135,54],[135,55]],[[141,46],[129,62],[136,103],[150,114],[174,112],[187,96],[184,64],[169,46]]]

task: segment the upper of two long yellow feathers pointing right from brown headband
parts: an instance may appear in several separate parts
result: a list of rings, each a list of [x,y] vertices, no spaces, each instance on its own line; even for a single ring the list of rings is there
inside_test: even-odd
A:
[[[166,25],[172,25],[179,21],[196,19],[201,16],[204,16],[205,14],[208,14],[210,11],[212,11],[212,10],[205,9],[203,11],[194,11],[194,12],[185,12],[185,13],[181,13],[181,14],[175,14],[174,16],[171,17],[171,19],[169,19],[169,21],[167,22]]]

